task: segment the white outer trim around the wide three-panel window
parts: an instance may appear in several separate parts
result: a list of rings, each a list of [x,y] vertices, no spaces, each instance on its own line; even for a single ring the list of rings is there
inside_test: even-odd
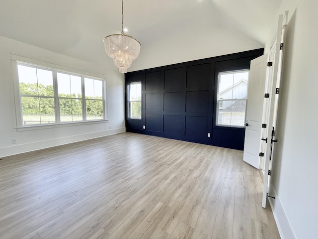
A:
[[[19,77],[18,77],[18,64],[24,64],[26,66],[34,66],[39,69],[52,70],[53,74],[56,72],[72,74],[75,76],[80,76],[83,78],[90,78],[103,81],[103,118],[104,119],[94,119],[87,121],[74,121],[74,122],[56,122],[50,124],[31,124],[31,125],[23,125],[22,123],[22,108],[21,108],[21,100],[20,100],[20,90],[19,90]],[[16,118],[16,129],[17,131],[27,131],[34,129],[43,129],[43,128],[56,128],[56,127],[65,127],[65,126],[77,126],[77,125],[85,125],[85,124],[93,124],[93,123],[102,123],[107,122],[108,119],[108,94],[107,94],[107,77],[102,74],[96,73],[88,73],[84,71],[80,71],[73,68],[68,68],[64,66],[55,65],[48,62],[43,62],[35,59],[30,59],[23,56],[18,56],[11,54],[11,65],[12,65],[12,78],[13,78],[13,91],[14,91],[14,103],[15,103],[15,118]],[[56,80],[56,77],[53,77],[53,80]],[[55,99],[58,99],[56,96],[57,92],[54,92]],[[57,97],[57,98],[56,98]],[[56,102],[56,101],[55,101]],[[57,102],[56,102],[57,104]],[[56,112],[56,116],[60,114],[59,111]]]

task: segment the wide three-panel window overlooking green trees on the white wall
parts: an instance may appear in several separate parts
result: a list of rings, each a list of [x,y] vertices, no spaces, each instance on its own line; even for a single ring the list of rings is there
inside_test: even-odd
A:
[[[22,126],[105,119],[104,80],[17,64]]]

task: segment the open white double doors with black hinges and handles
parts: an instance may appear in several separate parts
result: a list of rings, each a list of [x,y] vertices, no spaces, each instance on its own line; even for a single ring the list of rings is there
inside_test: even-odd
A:
[[[277,142],[275,130],[287,15],[288,11],[284,17],[279,15],[273,51],[250,63],[243,160],[258,169],[260,159],[263,160],[263,208],[267,197],[271,197],[268,192],[274,143]],[[286,21],[284,28],[283,18]]]

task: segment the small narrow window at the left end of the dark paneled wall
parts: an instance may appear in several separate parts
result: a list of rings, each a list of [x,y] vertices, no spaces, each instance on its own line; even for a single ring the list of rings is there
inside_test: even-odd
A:
[[[141,119],[141,82],[128,85],[128,116],[130,119]]]

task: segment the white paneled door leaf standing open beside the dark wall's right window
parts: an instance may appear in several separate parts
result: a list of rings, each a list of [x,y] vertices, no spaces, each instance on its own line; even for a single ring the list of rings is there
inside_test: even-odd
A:
[[[264,89],[267,77],[265,54],[250,62],[243,160],[259,168],[260,138],[263,117]]]

